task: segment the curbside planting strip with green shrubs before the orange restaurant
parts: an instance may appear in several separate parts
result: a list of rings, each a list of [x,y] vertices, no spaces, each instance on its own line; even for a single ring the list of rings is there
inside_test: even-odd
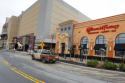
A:
[[[87,66],[99,69],[107,69],[107,70],[115,70],[115,71],[123,71],[125,72],[125,64],[123,63],[115,63],[109,60],[106,61],[99,61],[99,60],[88,60],[85,63],[83,62],[75,62],[75,61],[68,61],[68,60],[60,60],[65,63],[80,65],[80,66]]]

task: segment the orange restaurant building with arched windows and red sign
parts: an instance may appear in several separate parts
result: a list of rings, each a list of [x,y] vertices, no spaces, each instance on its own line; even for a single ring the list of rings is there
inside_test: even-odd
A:
[[[67,25],[69,24],[71,23],[67,22]],[[72,53],[79,57],[88,55],[121,58],[125,56],[125,14],[74,23],[72,36],[66,32],[65,25],[66,23],[63,25],[64,28],[59,28],[60,31],[57,34],[57,53],[70,54],[72,50]],[[65,32],[61,32],[62,29]],[[70,48],[67,47],[69,41],[72,42]]]

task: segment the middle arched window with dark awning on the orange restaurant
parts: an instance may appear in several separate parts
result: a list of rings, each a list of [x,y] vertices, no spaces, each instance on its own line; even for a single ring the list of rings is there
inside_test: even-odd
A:
[[[94,49],[95,49],[96,55],[100,55],[100,56],[106,55],[106,38],[103,35],[99,35],[96,38]]]

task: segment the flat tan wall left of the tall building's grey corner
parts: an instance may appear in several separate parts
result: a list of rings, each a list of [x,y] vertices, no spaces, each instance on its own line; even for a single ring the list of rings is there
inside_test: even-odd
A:
[[[20,15],[18,36],[24,36],[31,33],[34,33],[34,35],[37,34],[39,11],[40,3],[36,2],[26,11],[22,12]]]

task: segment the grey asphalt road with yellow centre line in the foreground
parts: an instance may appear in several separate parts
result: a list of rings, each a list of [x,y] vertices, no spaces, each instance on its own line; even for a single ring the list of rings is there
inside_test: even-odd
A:
[[[0,52],[0,83],[125,83],[125,73],[62,62],[45,64],[4,51]]]

